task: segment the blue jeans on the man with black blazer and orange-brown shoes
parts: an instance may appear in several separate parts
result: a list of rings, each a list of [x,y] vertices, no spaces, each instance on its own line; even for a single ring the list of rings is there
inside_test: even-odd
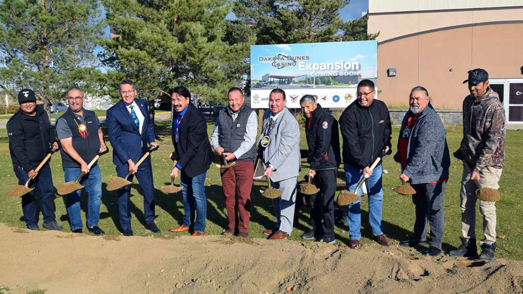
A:
[[[204,233],[207,218],[207,197],[205,196],[205,177],[207,172],[189,177],[184,169],[180,170],[181,191],[184,199],[184,225],[194,224],[196,232]],[[195,222],[196,212],[196,222]]]

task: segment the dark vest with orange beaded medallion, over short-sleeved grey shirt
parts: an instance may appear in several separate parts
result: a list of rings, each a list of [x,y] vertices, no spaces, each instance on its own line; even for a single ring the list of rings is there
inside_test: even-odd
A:
[[[100,149],[100,138],[98,137],[98,129],[100,125],[96,119],[96,114],[93,111],[83,109],[84,123],[87,127],[87,132],[89,135],[87,138],[82,138],[78,130],[78,125],[81,123],[76,119],[76,115],[73,110],[67,108],[65,114],[63,114],[59,119],[65,119],[67,126],[71,129],[73,133],[73,148],[76,150],[78,155],[89,164],[90,161],[94,159],[98,150]],[[78,125],[76,124],[78,123]],[[60,154],[62,155],[62,166],[63,167],[80,167],[80,164],[76,162],[71,156],[67,155],[64,152],[63,148],[60,149]]]

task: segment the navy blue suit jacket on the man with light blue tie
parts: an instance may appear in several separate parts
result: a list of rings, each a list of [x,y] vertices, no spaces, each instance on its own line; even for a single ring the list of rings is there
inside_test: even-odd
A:
[[[144,117],[142,133],[122,100],[107,109],[105,124],[112,145],[112,162],[117,166],[127,164],[129,159],[138,162],[142,154],[147,152],[147,144],[154,142],[154,125],[147,110],[147,100],[134,101]]]

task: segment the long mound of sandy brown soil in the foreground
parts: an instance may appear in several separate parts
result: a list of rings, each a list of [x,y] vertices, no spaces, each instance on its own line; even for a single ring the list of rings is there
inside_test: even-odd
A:
[[[523,293],[523,262],[376,243],[88,236],[0,224],[8,293]]]

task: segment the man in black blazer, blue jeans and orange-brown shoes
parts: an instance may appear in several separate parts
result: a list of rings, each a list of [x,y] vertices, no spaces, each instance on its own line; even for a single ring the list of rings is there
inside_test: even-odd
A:
[[[177,86],[171,92],[174,107],[173,140],[174,152],[171,159],[177,163],[171,177],[180,175],[184,223],[170,232],[188,231],[194,226],[193,236],[205,236],[207,218],[207,197],[205,177],[211,165],[211,144],[207,134],[207,123],[198,108],[190,103],[191,93],[184,86]],[[195,221],[196,212],[196,221]]]

